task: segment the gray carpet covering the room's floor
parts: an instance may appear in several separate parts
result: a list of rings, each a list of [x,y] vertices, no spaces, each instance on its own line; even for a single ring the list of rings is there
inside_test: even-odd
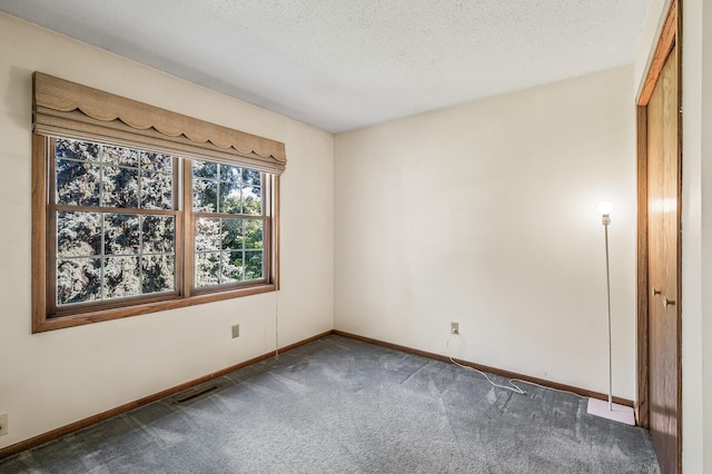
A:
[[[496,382],[503,381],[494,377]],[[328,336],[0,461],[1,473],[657,473],[586,399]]]

